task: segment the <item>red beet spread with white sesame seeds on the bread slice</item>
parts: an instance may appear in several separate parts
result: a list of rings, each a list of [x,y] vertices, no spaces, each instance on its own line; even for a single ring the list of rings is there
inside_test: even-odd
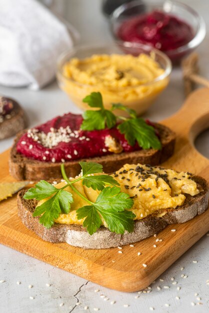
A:
[[[130,146],[116,127],[85,131],[80,129],[82,116],[67,113],[29,129],[17,142],[17,152],[41,161],[64,162],[86,157],[110,154],[105,137],[114,137],[124,152],[141,149],[137,143]],[[150,122],[147,121],[150,124]]]

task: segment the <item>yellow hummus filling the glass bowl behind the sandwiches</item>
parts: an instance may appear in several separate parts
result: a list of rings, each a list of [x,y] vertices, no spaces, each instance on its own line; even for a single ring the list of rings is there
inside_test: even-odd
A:
[[[121,102],[138,113],[150,104],[168,83],[157,79],[164,73],[160,64],[146,54],[94,54],[72,58],[62,67],[61,88],[83,108],[82,99],[93,91],[102,94],[105,107]],[[155,80],[156,79],[156,80]]]

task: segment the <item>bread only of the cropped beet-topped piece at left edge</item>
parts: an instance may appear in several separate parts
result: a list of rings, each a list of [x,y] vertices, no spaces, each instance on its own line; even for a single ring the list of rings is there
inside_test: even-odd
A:
[[[26,117],[21,106],[15,100],[7,99],[12,101],[13,108],[12,113],[8,113],[11,117],[0,123],[0,139],[11,137],[26,127]]]

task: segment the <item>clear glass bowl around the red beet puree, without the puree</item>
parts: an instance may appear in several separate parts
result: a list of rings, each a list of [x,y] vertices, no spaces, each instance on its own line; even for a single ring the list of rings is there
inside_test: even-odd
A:
[[[193,38],[188,43],[174,49],[163,51],[173,63],[179,63],[181,58],[193,51],[205,36],[205,23],[203,18],[186,4],[170,0],[146,0],[144,3],[141,0],[134,0],[122,4],[116,8],[111,15],[111,33],[115,39],[121,40],[121,38],[118,37],[118,30],[124,21],[144,13],[152,12],[153,10],[159,10],[163,13],[174,15],[177,19],[185,21],[193,30]]]

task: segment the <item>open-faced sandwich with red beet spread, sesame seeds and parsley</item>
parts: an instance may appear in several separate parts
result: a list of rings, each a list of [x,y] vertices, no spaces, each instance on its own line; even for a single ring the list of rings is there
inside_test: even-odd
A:
[[[61,163],[68,176],[76,176],[82,160],[98,162],[110,173],[125,163],[156,165],[172,155],[175,134],[166,126],[145,121],[119,103],[105,109],[99,92],[83,101],[94,110],[82,116],[57,116],[17,136],[9,159],[12,176],[28,180],[61,177]],[[115,116],[114,109],[125,110],[129,117]]]

